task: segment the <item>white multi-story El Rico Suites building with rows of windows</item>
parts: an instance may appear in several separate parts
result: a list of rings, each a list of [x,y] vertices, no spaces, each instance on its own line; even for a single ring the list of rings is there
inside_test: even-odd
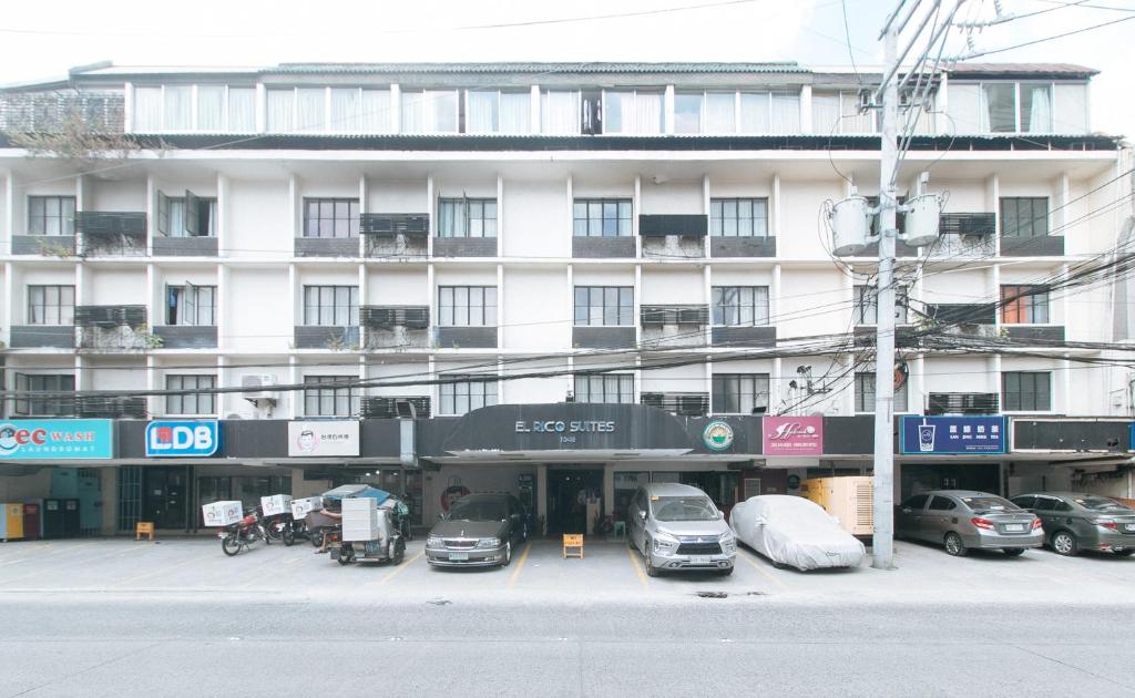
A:
[[[1127,301],[1083,276],[1121,255],[1133,191],[1092,75],[960,65],[903,96],[900,192],[928,173],[948,200],[938,244],[899,246],[896,412],[1003,434],[919,455],[898,421],[897,494],[1129,496],[1092,474],[1132,446],[1127,375],[1100,363]],[[8,89],[0,502],[191,528],[200,503],[361,479],[427,521],[518,491],[560,530],[580,489],[617,520],[651,479],[728,507],[869,472],[875,252],[834,258],[825,210],[877,193],[878,78],[99,65]],[[770,445],[776,417],[817,431]],[[30,457],[22,424],[72,418],[114,420],[107,457]],[[296,451],[288,422],[335,418],[358,431]],[[199,419],[220,420],[211,456],[146,451],[145,420]]]

